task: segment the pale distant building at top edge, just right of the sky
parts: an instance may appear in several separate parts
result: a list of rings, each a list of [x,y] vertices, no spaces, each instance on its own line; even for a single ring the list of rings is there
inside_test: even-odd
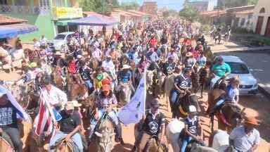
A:
[[[198,11],[213,11],[214,0],[193,0],[188,1],[188,4],[195,6]]]

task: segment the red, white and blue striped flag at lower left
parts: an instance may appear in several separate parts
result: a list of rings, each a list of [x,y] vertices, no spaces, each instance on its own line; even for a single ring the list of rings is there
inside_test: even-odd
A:
[[[47,93],[46,89],[44,89],[41,92],[39,114],[37,115],[38,120],[37,124],[35,125],[35,133],[38,136],[43,132],[55,133],[56,129],[53,128],[53,122],[62,119],[60,113],[58,113],[58,111],[48,102],[48,97],[49,94]]]

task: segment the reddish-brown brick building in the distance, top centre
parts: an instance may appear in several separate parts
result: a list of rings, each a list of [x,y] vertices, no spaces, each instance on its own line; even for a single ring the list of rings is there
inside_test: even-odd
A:
[[[157,1],[143,1],[143,5],[139,8],[139,11],[148,13],[154,18],[158,17],[158,3]]]

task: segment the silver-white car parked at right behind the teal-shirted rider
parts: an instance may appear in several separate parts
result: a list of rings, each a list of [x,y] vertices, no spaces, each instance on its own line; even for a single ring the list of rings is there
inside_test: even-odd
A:
[[[255,77],[251,74],[248,66],[237,56],[221,56],[225,63],[231,67],[231,74],[229,77],[239,76],[240,86],[239,93],[241,95],[257,94],[258,83]]]

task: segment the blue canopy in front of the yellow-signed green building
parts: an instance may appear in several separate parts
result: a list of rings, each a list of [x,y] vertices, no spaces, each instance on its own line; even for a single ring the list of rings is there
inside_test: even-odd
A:
[[[116,20],[110,19],[108,16],[93,14],[86,18],[80,18],[78,20],[70,20],[68,25],[90,25],[90,26],[109,26],[115,25],[118,22]]]

